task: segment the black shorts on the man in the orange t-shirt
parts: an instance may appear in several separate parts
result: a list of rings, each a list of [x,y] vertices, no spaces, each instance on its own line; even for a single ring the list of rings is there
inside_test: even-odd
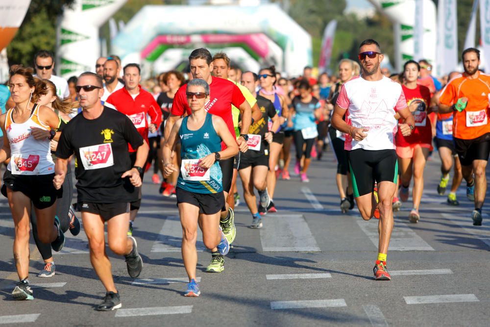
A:
[[[489,160],[490,133],[471,140],[454,138],[454,144],[462,166],[471,165],[473,160]]]

